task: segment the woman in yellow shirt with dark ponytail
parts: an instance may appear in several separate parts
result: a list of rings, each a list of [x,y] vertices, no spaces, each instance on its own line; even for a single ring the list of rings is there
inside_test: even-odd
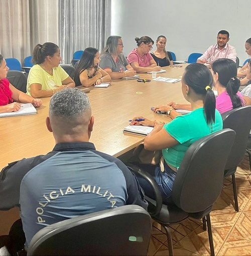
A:
[[[36,45],[27,81],[27,94],[34,98],[52,96],[65,88],[75,87],[74,81],[59,66],[62,60],[55,43]]]

